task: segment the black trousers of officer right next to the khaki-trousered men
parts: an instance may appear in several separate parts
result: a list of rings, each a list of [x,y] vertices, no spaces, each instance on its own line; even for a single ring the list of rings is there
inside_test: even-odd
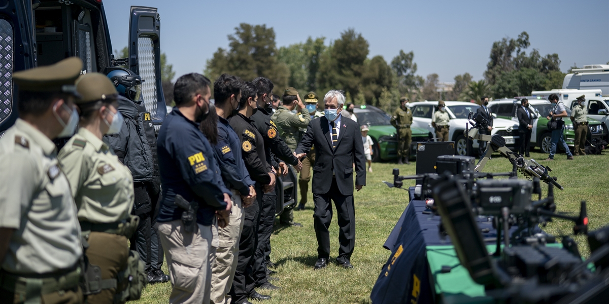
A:
[[[233,303],[241,304],[247,301],[247,297],[254,292],[253,262],[258,244],[260,206],[262,206],[262,188],[256,184],[256,201],[245,208],[243,230],[241,238],[239,238],[237,269],[234,273],[233,286],[229,292]]]

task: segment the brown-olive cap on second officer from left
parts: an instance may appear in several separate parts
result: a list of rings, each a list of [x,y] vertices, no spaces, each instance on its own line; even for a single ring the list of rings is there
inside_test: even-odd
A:
[[[116,100],[118,98],[118,92],[110,78],[100,73],[82,75],[76,81],[76,89],[81,97],[79,100],[75,100],[75,103]]]

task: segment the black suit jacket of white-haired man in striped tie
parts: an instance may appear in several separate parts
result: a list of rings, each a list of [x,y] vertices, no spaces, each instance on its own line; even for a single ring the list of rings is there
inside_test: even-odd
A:
[[[351,119],[341,117],[339,139],[332,148],[332,132],[326,117],[311,120],[305,136],[298,143],[296,154],[308,153],[315,147],[313,167],[313,193],[328,193],[332,185],[332,173],[342,195],[353,195],[353,162],[357,174],[355,183],[366,185],[364,143],[359,125]]]

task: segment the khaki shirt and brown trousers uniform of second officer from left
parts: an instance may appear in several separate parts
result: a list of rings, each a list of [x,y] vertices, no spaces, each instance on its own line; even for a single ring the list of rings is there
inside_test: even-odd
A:
[[[118,226],[130,219],[133,208],[133,178],[114,151],[93,133],[80,128],[59,153],[68,176],[91,264],[100,266],[102,280],[116,278],[127,267],[130,235]],[[117,288],[102,289],[88,297],[88,303],[111,303]],[[110,301],[110,302],[108,302]]]

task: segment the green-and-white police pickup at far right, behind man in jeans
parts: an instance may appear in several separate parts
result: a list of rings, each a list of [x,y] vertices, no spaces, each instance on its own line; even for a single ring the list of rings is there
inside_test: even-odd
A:
[[[522,98],[527,98],[529,100],[529,110],[537,115],[537,118],[533,120],[530,147],[539,147],[543,153],[550,153],[551,131],[547,130],[546,116],[554,109],[554,105],[548,100],[537,97],[496,99],[488,103],[488,108],[490,108],[497,117],[512,119],[515,122],[518,122],[516,109],[518,109]],[[571,109],[568,108],[568,105],[565,105],[565,108],[568,117],[571,116]],[[575,143],[575,131],[573,130],[573,123],[568,117],[564,119],[565,131],[563,132],[563,137],[565,138],[567,145],[573,147]],[[588,117],[588,143],[586,143],[586,145],[596,143],[599,139],[604,139],[607,136],[607,133],[607,127],[604,123]]]

